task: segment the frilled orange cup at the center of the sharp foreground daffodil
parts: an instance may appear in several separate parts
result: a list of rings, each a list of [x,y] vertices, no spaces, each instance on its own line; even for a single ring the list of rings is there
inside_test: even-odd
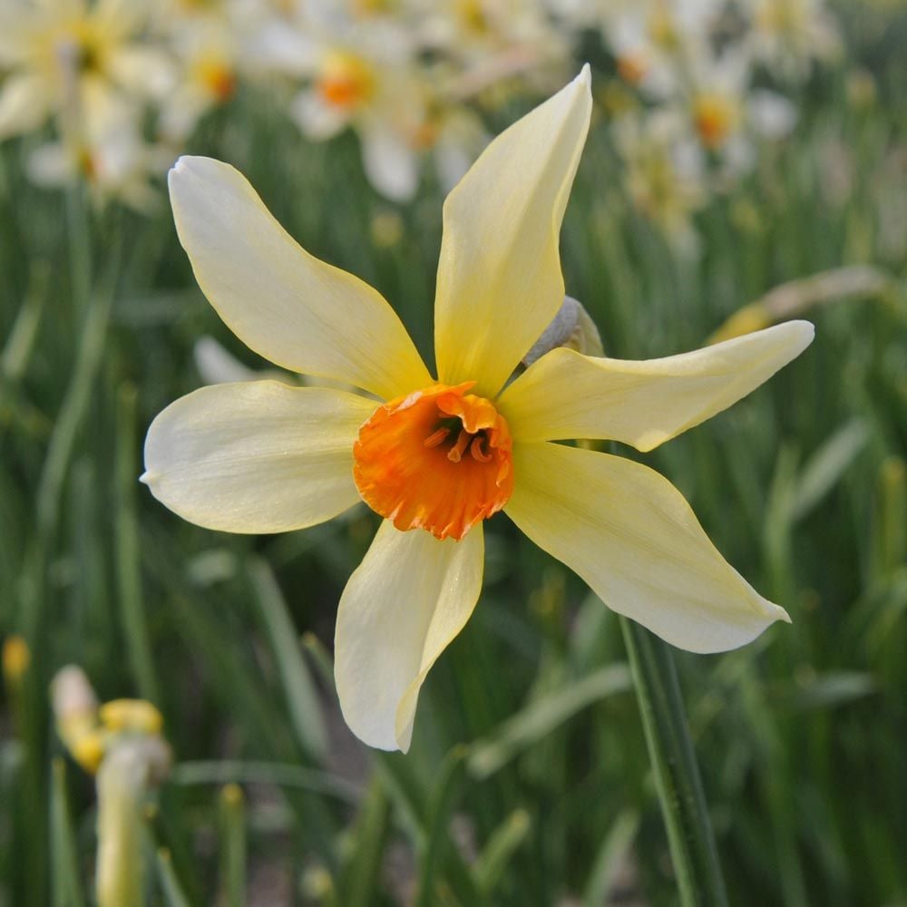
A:
[[[363,500],[405,532],[463,539],[513,491],[511,436],[474,381],[433,385],[379,406],[353,445]]]

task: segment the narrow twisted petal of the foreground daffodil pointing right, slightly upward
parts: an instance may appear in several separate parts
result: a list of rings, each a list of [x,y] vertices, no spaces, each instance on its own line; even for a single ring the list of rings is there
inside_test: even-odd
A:
[[[607,438],[649,451],[727,409],[809,346],[789,321],[680,356],[633,362],[551,350],[498,405],[516,441]]]

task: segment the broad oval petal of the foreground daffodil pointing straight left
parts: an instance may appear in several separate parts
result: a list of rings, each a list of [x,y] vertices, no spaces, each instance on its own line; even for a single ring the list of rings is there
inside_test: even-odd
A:
[[[359,500],[353,443],[374,409],[374,400],[325,387],[202,387],[151,423],[141,479],[171,511],[208,529],[314,526]]]

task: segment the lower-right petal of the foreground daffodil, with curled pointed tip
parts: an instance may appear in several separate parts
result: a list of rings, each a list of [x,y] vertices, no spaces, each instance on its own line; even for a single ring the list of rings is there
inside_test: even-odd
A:
[[[764,599],[708,541],[678,490],[631,460],[561,444],[514,444],[504,508],[540,548],[611,609],[691,652],[756,638],[783,608]]]

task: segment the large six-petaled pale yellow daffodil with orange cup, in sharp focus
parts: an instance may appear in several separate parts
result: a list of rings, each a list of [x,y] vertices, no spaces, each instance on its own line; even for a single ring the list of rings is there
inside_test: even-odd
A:
[[[447,198],[436,379],[385,299],[300,249],[237,171],[204,158],[171,171],[180,241],[227,325],[278,366],[371,396],[203,387],[151,424],[143,479],[180,516],[228,532],[302,529],[360,500],[385,518],[336,623],[340,704],[371,746],[409,746],[425,675],[479,597],[483,521],[500,510],[611,608],[683,649],[734,649],[788,619],[666,479],[554,442],[649,451],[760,385],[812,326],[649,362],[559,347],[510,381],[564,298],[558,234],[590,107],[584,69]]]

